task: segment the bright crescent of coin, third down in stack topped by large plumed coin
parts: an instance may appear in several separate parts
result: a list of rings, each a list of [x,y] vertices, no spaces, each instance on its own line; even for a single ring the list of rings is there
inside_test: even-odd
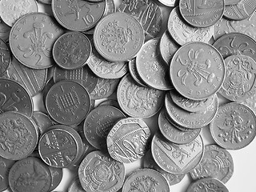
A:
[[[170,94],[172,94],[170,92]],[[214,98],[214,102],[206,107],[205,110],[191,113],[187,110],[183,110],[177,106],[170,97],[170,94],[166,94],[166,111],[168,116],[178,124],[178,126],[186,127],[189,129],[202,128],[213,121],[218,110],[218,97]]]

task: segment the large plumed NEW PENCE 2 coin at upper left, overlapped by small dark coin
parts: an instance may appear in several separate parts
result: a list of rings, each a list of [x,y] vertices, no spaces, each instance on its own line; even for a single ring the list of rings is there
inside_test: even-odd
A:
[[[62,28],[50,15],[26,14],[10,30],[10,50],[24,66],[46,69],[54,63],[52,48],[61,34]]]

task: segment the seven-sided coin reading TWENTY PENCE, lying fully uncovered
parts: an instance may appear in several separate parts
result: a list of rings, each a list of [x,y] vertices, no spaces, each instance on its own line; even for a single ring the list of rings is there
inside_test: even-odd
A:
[[[111,158],[130,163],[142,158],[148,150],[150,129],[140,118],[123,118],[116,122],[106,138]]]

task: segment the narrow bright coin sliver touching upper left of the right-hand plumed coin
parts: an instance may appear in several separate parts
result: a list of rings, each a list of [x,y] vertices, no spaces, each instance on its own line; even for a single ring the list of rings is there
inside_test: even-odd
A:
[[[170,60],[173,58],[174,53],[178,50],[178,45],[170,38],[167,30],[162,34],[162,37],[159,42],[159,50],[162,56],[162,59],[166,62],[167,65],[170,65]]]

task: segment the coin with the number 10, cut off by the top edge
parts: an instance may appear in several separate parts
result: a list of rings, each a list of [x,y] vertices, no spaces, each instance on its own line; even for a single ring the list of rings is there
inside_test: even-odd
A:
[[[93,28],[102,18],[106,1],[52,0],[51,7],[56,20],[67,30],[85,31]]]

